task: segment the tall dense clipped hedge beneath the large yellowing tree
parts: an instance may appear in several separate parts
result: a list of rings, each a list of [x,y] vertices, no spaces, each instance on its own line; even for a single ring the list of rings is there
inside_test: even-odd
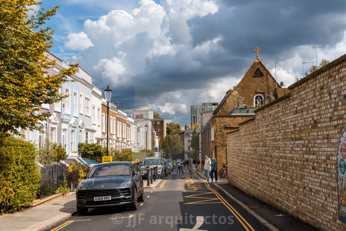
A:
[[[0,214],[33,202],[39,182],[35,147],[16,137],[0,137]]]

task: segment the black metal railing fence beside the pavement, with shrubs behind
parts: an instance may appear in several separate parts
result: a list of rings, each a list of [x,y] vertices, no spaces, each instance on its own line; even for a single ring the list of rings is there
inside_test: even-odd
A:
[[[67,182],[67,187],[74,191],[78,184],[83,180],[83,176],[88,174],[89,165],[48,165],[40,168],[40,186],[37,190],[37,198],[44,199],[55,194],[55,191],[64,186],[64,181]]]

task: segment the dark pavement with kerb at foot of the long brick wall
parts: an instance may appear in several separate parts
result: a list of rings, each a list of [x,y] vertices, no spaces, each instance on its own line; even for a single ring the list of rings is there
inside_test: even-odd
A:
[[[206,179],[203,170],[195,171],[200,177]],[[215,181],[215,178],[214,178]],[[319,229],[309,225],[306,222],[295,218],[294,216],[276,209],[274,206],[258,200],[254,196],[246,194],[239,188],[229,185],[227,178],[219,178],[217,183],[209,184],[214,185],[223,191],[232,201],[238,204],[248,214],[252,215],[258,222],[270,231],[296,231],[296,230],[309,230],[319,231]]]

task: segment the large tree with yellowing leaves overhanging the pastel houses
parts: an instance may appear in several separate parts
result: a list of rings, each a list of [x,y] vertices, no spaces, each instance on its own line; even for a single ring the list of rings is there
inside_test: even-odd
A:
[[[78,64],[57,75],[48,73],[55,61],[47,59],[53,47],[54,28],[42,28],[56,14],[52,10],[32,7],[35,0],[7,0],[0,4],[0,133],[19,135],[18,128],[39,130],[51,112],[38,113],[42,104],[59,102],[66,97],[59,93],[67,76],[76,72]],[[28,16],[30,11],[31,16]],[[8,134],[9,135],[9,134]]]

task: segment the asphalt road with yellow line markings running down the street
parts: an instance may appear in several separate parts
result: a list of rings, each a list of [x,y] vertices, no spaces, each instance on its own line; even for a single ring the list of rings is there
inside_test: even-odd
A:
[[[174,169],[156,188],[145,189],[137,211],[126,207],[89,209],[47,230],[266,230],[212,183],[185,167]]]

